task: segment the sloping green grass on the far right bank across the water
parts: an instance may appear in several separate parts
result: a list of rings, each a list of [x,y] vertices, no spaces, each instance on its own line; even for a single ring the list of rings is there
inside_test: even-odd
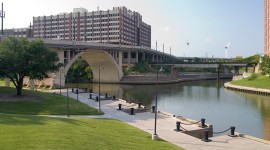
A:
[[[242,80],[232,81],[231,84],[248,86],[255,88],[270,89],[270,77],[258,74],[258,77],[254,80],[249,80],[248,78]]]

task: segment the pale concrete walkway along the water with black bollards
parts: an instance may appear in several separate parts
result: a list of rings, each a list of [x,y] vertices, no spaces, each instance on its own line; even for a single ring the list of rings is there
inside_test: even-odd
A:
[[[55,91],[58,92],[58,91]],[[62,95],[66,95],[62,92]],[[69,92],[69,96],[74,99],[76,94]],[[98,102],[89,100],[89,93],[80,93],[79,100],[89,106],[98,109]],[[91,118],[113,118],[127,122],[141,130],[153,134],[154,130],[154,114],[151,112],[136,113],[129,115],[123,111],[117,110],[118,104],[122,103],[123,108],[137,107],[136,104],[129,104],[123,101],[104,100],[101,101],[101,110],[105,113],[102,116],[87,116]],[[71,116],[81,117],[81,116]],[[85,117],[85,116],[84,116]],[[157,134],[160,138],[171,142],[179,147],[187,150],[270,150],[270,142],[260,139],[250,139],[247,137],[229,137],[227,135],[210,138],[212,142],[203,142],[200,139],[186,135],[181,132],[175,132],[177,119],[169,115],[158,114]],[[187,130],[198,128],[196,125],[184,126]],[[258,141],[256,141],[258,140]]]

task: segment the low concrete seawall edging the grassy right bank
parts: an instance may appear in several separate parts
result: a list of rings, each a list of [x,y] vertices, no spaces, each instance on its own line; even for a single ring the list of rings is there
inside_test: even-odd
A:
[[[268,89],[260,89],[260,88],[254,88],[254,87],[233,85],[230,82],[225,83],[224,87],[229,89],[229,90],[235,90],[235,91],[239,91],[239,92],[246,92],[246,93],[258,94],[258,95],[270,96],[270,90],[268,90]]]

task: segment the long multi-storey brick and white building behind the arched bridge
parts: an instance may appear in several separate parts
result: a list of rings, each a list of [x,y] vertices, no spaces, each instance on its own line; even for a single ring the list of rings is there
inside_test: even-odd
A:
[[[151,47],[151,26],[126,7],[33,17],[33,37]]]

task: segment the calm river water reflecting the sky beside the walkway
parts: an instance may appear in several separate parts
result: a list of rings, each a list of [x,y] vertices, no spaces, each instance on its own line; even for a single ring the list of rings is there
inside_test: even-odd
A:
[[[270,140],[269,97],[230,91],[222,85],[216,81],[159,85],[158,108],[194,120],[205,118],[214,131],[235,126],[239,132]],[[80,87],[98,91],[96,84]],[[101,91],[147,107],[155,100],[155,85],[102,84]]]

